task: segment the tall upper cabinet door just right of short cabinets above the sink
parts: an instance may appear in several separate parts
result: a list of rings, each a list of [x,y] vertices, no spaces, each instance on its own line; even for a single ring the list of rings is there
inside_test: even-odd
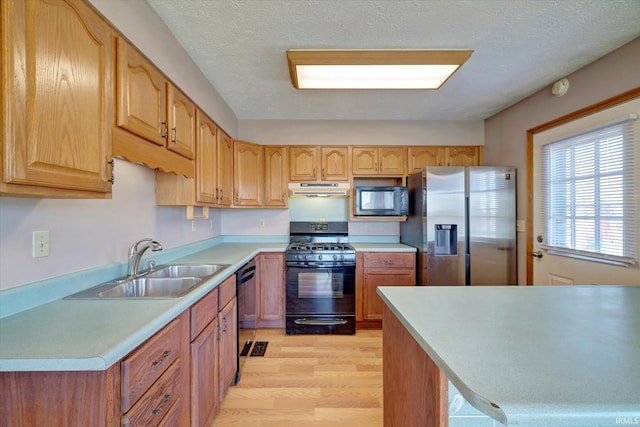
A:
[[[216,124],[200,110],[196,114],[196,201],[216,203]]]

